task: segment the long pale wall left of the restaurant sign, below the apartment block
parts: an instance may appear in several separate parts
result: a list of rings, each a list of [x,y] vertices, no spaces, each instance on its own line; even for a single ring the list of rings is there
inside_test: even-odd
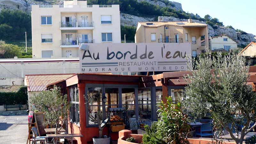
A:
[[[8,83],[7,85],[11,85],[12,81],[16,85],[24,85],[21,79],[30,74],[79,72],[79,59],[0,59],[0,64],[0,79],[3,79],[0,82]],[[8,79],[4,80],[5,78]]]

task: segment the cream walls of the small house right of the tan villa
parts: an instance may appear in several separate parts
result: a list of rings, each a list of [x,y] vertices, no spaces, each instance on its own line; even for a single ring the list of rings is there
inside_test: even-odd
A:
[[[228,41],[223,41],[223,38],[228,38]],[[224,49],[224,45],[230,46],[229,50],[236,49],[237,48],[237,43],[233,41],[231,38],[228,36],[218,36],[218,37],[213,37],[210,38],[210,48],[211,50],[213,49]]]

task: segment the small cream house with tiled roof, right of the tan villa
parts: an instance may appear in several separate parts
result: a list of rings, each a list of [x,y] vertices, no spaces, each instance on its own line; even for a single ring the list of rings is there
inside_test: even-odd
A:
[[[210,50],[224,49],[228,52],[237,48],[237,43],[226,34],[209,38]]]

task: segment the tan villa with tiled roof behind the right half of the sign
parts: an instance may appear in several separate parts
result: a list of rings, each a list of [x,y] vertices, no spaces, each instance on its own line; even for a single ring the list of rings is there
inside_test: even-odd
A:
[[[191,19],[179,22],[139,22],[135,43],[191,43],[192,55],[195,56],[204,52],[208,46],[207,25]]]

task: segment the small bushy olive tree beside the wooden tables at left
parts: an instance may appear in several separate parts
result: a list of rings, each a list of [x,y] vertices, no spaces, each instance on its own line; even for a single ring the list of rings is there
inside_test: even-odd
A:
[[[62,128],[60,122],[67,120],[69,109],[67,95],[62,95],[60,89],[54,87],[51,90],[41,91],[37,95],[33,95],[30,102],[33,105],[31,110],[43,112],[44,124],[55,127],[55,134],[57,134],[58,128]],[[62,142],[57,143],[61,144]]]

